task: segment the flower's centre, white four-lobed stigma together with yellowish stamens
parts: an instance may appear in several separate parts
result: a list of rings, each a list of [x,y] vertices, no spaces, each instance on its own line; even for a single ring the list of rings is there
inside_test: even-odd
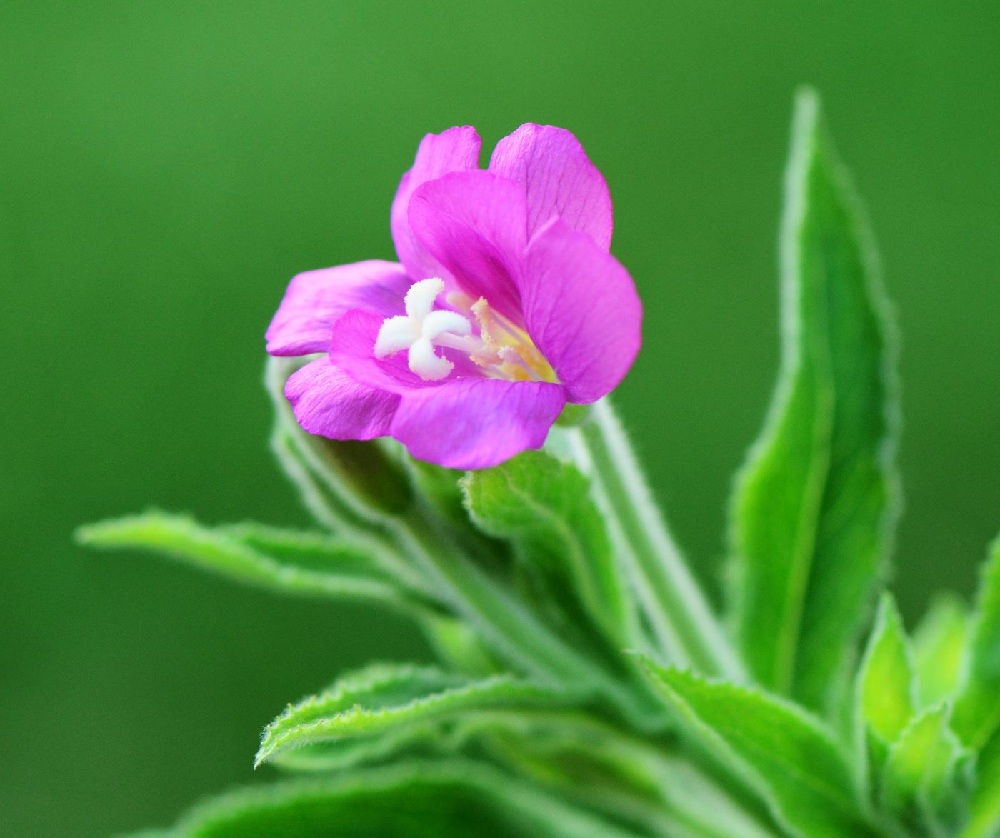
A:
[[[406,292],[406,314],[388,317],[375,340],[379,360],[407,350],[410,371],[424,381],[440,381],[455,368],[438,355],[437,347],[457,349],[468,355],[491,378],[511,381],[556,381],[552,367],[523,329],[493,311],[482,297],[473,302],[465,294],[449,295],[448,302],[468,312],[435,309],[444,292],[444,280],[421,279]],[[473,334],[472,320],[479,327]]]

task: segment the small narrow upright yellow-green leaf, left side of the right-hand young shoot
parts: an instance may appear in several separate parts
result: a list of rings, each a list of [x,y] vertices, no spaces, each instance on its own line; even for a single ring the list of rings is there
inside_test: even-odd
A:
[[[860,721],[874,739],[879,766],[886,746],[896,741],[913,719],[914,686],[910,641],[895,602],[889,594],[883,594],[857,687]]]

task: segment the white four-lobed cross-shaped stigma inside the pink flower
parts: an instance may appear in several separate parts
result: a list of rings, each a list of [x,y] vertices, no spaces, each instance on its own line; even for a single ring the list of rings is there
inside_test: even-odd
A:
[[[408,364],[414,375],[424,381],[440,381],[454,368],[447,358],[434,351],[435,346],[453,345],[449,337],[472,334],[472,324],[455,311],[438,309],[434,301],[444,291],[444,280],[438,277],[421,279],[406,292],[406,314],[386,318],[375,339],[375,357],[380,361],[408,352]]]

